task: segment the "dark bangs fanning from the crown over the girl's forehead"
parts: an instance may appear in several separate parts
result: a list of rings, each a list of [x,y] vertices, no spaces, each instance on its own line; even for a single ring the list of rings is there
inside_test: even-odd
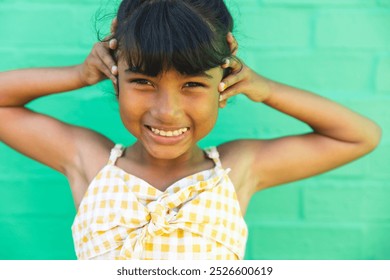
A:
[[[202,73],[230,55],[226,40],[216,37],[224,35],[213,29],[184,1],[144,4],[118,29],[119,56],[130,70],[148,76],[169,69]]]

